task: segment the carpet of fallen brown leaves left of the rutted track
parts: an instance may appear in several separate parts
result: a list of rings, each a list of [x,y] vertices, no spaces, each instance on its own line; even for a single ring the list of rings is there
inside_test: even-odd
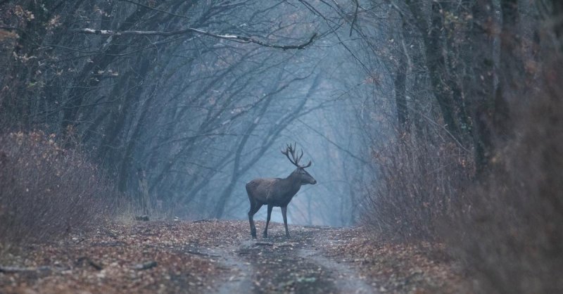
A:
[[[199,293],[226,270],[205,251],[239,243],[246,229],[241,222],[110,223],[2,256],[3,266],[39,270],[0,273],[0,292]]]

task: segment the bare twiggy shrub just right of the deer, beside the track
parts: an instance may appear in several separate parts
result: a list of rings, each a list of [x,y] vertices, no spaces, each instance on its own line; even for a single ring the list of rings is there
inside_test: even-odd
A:
[[[473,172],[471,154],[448,134],[410,134],[375,155],[377,179],[367,194],[364,224],[386,239],[432,240]]]

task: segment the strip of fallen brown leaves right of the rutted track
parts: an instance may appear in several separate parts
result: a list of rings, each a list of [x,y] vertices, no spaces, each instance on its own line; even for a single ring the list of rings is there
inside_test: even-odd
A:
[[[443,245],[385,243],[361,228],[341,229],[332,235],[323,249],[355,264],[379,292],[469,292],[468,282],[448,260]]]

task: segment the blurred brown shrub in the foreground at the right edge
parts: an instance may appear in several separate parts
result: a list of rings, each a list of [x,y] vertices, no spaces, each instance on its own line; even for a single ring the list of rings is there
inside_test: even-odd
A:
[[[514,109],[514,138],[445,232],[479,292],[563,292],[563,91],[551,90]]]

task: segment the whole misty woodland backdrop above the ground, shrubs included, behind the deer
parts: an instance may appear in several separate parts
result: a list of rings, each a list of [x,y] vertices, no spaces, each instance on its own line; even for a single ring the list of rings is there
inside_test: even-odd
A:
[[[0,239],[246,219],[297,142],[290,222],[561,290],[562,34],[558,0],[0,1]]]

